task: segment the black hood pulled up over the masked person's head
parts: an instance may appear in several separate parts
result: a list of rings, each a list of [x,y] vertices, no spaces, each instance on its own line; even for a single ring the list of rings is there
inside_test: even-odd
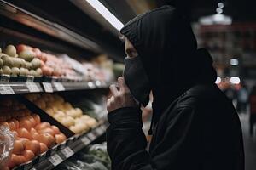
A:
[[[189,21],[172,6],[130,20],[120,31],[137,49],[153,91],[153,124],[178,96],[197,83],[213,83],[216,71],[204,48],[197,49]]]

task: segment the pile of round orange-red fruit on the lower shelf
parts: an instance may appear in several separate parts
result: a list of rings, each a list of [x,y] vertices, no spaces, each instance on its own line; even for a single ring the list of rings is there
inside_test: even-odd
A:
[[[14,149],[8,163],[10,169],[31,161],[67,139],[58,127],[41,122],[40,116],[15,99],[0,99],[0,126],[9,127],[15,135]]]

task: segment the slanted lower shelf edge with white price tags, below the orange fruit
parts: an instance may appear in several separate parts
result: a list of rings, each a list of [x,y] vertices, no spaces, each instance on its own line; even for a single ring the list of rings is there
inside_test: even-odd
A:
[[[28,161],[25,164],[20,165],[20,167],[15,167],[14,170],[53,169],[61,162],[67,160],[70,156],[73,156],[76,152],[101,137],[105,133],[107,127],[108,122],[102,122],[99,126],[90,130],[90,132],[74,135],[64,143],[55,145],[51,150],[37,156],[32,161]]]

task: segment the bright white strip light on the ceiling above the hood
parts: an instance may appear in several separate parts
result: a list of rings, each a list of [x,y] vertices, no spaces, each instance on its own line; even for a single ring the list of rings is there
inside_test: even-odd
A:
[[[101,2],[98,0],[86,0],[90,3],[90,6],[96,9],[96,11],[108,20],[108,22],[118,31],[124,26],[124,24],[118,20]]]

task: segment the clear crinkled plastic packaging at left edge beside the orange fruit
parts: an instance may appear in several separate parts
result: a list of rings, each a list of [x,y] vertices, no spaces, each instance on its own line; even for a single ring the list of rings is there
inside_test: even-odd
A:
[[[5,169],[14,149],[15,135],[7,126],[0,126],[0,169]]]

